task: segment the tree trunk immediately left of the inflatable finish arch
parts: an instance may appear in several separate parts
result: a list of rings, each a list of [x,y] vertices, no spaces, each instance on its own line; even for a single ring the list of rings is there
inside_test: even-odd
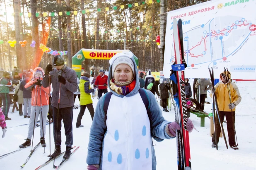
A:
[[[66,0],[66,5],[70,8],[70,0]],[[68,44],[68,67],[72,68],[72,55],[71,55],[71,23],[70,23],[70,15],[67,15],[67,44]]]

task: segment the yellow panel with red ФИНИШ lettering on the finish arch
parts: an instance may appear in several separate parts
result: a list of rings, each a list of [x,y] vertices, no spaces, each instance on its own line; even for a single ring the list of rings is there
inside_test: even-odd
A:
[[[82,49],[84,57],[86,59],[111,59],[119,52],[125,52],[129,50],[90,50]]]

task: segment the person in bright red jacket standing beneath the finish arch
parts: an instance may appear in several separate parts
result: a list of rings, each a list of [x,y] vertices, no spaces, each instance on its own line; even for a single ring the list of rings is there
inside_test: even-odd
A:
[[[108,76],[104,74],[103,70],[99,71],[99,76],[97,76],[94,86],[98,86],[99,89],[99,99],[102,93],[106,94],[108,92]]]

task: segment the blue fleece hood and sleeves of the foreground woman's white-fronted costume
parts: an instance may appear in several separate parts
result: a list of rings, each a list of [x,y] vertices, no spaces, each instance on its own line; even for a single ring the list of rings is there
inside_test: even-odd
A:
[[[138,94],[138,90],[140,89],[140,82],[138,81],[138,70],[136,67],[135,60],[133,60],[134,66],[135,66],[135,88],[133,91],[131,91],[129,94],[126,95],[126,97],[132,97],[135,94]],[[110,80],[112,78],[112,65],[109,68],[109,76],[108,76],[108,86],[110,89]],[[110,91],[113,93],[113,95],[123,98],[123,95],[117,94],[113,90],[110,89]],[[167,134],[165,131],[165,128],[167,127],[167,124],[170,122],[165,120],[162,116],[162,110],[159,107],[159,104],[157,103],[157,100],[155,99],[154,94],[150,92],[149,90],[145,90],[147,97],[149,99],[150,103],[150,111],[152,114],[152,122],[150,131],[152,134],[152,137],[157,142],[161,142],[164,139],[172,139],[174,137],[171,137]],[[136,101],[134,101],[136,103]],[[90,130],[90,136],[89,136],[89,144],[88,144],[88,154],[87,154],[87,164],[88,165],[94,165],[99,164],[99,170],[101,170],[102,167],[102,149],[104,148],[104,137],[107,132],[107,127],[105,123],[105,113],[103,111],[103,105],[104,105],[104,96],[99,99],[99,102],[97,103],[97,107],[95,109],[94,118],[92,121],[92,126]],[[133,106],[132,103],[129,104],[130,106]],[[141,107],[145,107],[142,105]],[[155,157],[155,150],[154,147],[151,145],[151,153],[152,153],[152,170],[156,170],[156,157]]]

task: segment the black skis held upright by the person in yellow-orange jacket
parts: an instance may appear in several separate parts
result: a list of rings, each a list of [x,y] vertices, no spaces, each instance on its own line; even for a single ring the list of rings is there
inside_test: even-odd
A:
[[[212,67],[212,71],[210,70],[210,68],[208,68],[209,69],[209,72],[210,72],[210,78],[211,78],[211,82],[212,82],[212,85],[213,85],[213,89],[214,89],[214,77],[213,77],[213,67]],[[215,90],[215,89],[214,89]],[[218,104],[217,104],[217,96],[216,96],[216,94],[215,94],[215,92],[213,93],[213,100],[214,100],[214,102],[215,102],[215,106],[216,106],[216,109],[217,109],[217,120],[219,120],[219,123],[220,123],[220,116],[219,116],[219,113],[220,113],[220,110],[219,110],[219,106],[218,106]],[[214,108],[214,110],[213,110],[213,113],[215,112],[215,108]],[[214,119],[214,115],[213,115],[213,119]],[[222,129],[222,133],[223,133],[223,137],[224,137],[224,140],[225,140],[225,144],[226,144],[226,146],[227,146],[227,139],[226,139],[226,136],[225,136],[225,132],[224,132],[224,128],[223,128],[223,125],[222,125],[222,123],[220,123],[220,127],[221,127],[221,129]],[[217,138],[216,138],[216,136],[215,136],[215,143],[216,143],[216,146],[217,146]],[[217,149],[217,147],[216,147],[216,149]],[[227,149],[228,149],[228,146],[227,146]]]

